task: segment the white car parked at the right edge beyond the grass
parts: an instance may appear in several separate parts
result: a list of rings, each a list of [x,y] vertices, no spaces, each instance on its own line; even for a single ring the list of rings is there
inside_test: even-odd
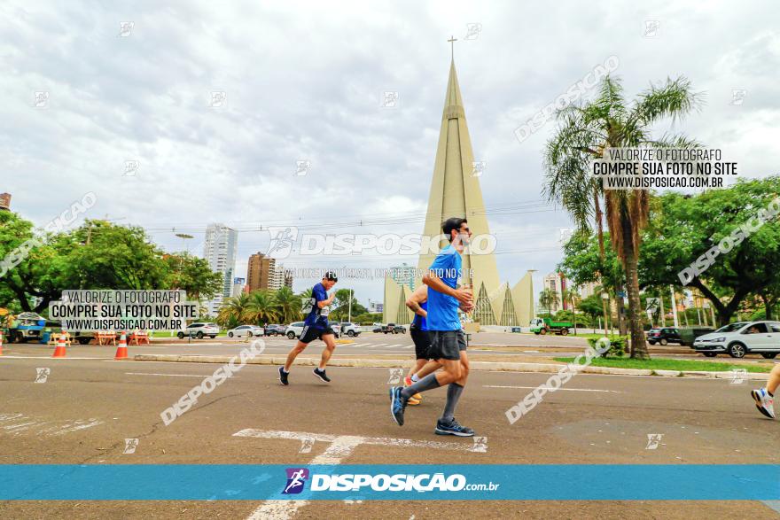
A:
[[[693,341],[696,352],[708,358],[728,353],[743,358],[748,353],[760,353],[771,360],[780,353],[780,322],[736,322]]]

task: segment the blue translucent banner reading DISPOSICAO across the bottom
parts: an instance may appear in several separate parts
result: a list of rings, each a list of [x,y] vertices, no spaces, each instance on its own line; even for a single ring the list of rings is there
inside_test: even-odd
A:
[[[776,501],[777,464],[0,465],[13,501]]]

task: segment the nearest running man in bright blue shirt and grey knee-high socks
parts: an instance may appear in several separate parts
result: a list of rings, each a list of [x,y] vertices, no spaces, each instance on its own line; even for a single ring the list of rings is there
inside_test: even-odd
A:
[[[447,404],[436,423],[435,433],[471,437],[474,431],[458,424],[454,414],[468,376],[465,336],[457,311],[461,308],[470,312],[473,308],[471,291],[458,289],[457,280],[462,275],[460,255],[472,232],[468,221],[457,217],[449,218],[442,224],[441,229],[450,244],[436,255],[433,264],[423,276],[423,283],[428,286],[426,320],[431,337],[428,355],[441,363],[443,370],[429,374],[405,388],[398,386],[391,389],[390,410],[394,421],[402,426],[403,412],[411,396],[447,384]]]

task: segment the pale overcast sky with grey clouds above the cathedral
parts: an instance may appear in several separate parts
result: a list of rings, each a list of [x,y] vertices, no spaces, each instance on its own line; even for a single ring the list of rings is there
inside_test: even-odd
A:
[[[88,217],[142,225],[169,251],[186,232],[202,252],[207,224],[224,222],[240,230],[238,276],[267,251],[268,226],[421,232],[450,35],[498,268],[512,284],[538,269],[538,291],[571,225],[542,204],[554,125],[522,143],[513,131],[610,56],[628,97],[679,74],[706,94],[699,113],[659,132],[721,148],[740,175],[777,173],[773,2],[166,4],[0,5],[0,191],[14,211],[43,226],[94,191]],[[466,38],[469,24],[479,31]],[[387,91],[398,92],[393,108],[382,106]],[[38,104],[36,92],[46,93]],[[295,175],[300,160],[307,175]],[[417,264],[371,255],[285,266],[404,260]],[[381,281],[345,285],[364,304],[382,298]]]

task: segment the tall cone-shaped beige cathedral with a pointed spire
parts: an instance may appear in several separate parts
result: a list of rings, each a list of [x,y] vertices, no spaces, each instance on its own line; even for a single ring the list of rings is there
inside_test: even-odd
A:
[[[487,212],[480,188],[484,163],[474,160],[472,140],[466,124],[466,115],[455,61],[449,66],[447,93],[441,114],[439,144],[433,161],[433,178],[428,196],[428,208],[423,228],[424,241],[441,235],[441,223],[450,217],[468,218],[475,239],[490,239]],[[442,240],[439,244],[447,244]],[[397,283],[392,276],[385,278],[385,322],[409,323],[412,313],[404,304],[409,293],[421,283],[418,276],[430,268],[435,253],[423,252],[417,264],[415,282]],[[472,319],[480,325],[527,325],[534,317],[534,286],[528,271],[518,283],[500,283],[493,252],[464,252],[464,276],[460,283],[470,283],[474,293]]]

